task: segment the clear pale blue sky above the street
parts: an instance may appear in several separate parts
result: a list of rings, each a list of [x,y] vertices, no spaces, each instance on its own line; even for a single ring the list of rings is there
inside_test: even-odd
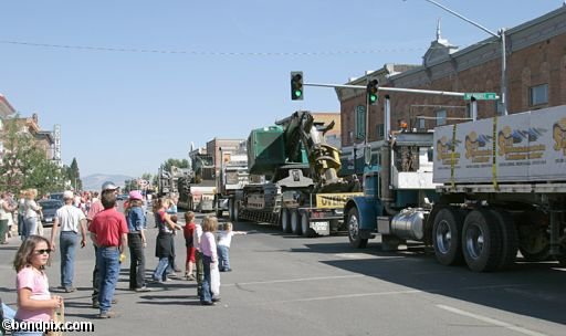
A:
[[[563,0],[437,0],[491,31]],[[297,109],[339,112],[333,88],[291,101],[290,72],[345,84],[421,64],[436,39],[490,38],[426,0],[1,1],[0,94],[42,129],[61,125],[81,176],[157,174],[190,144],[245,139]]]

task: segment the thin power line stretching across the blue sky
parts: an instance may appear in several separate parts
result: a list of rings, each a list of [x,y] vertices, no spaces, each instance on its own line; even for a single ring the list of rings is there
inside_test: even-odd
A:
[[[153,54],[186,54],[196,56],[332,56],[347,54],[378,54],[423,51],[424,48],[384,48],[370,50],[344,50],[344,51],[315,51],[315,52],[213,52],[213,51],[186,51],[186,50],[163,50],[163,49],[137,49],[137,48],[108,48],[92,45],[71,45],[35,43],[24,41],[0,40],[1,44],[25,45],[33,48],[67,49],[96,52],[123,52],[123,53],[153,53]],[[488,42],[489,44],[492,42]],[[476,43],[478,45],[481,43]],[[428,50],[428,49],[427,49]]]

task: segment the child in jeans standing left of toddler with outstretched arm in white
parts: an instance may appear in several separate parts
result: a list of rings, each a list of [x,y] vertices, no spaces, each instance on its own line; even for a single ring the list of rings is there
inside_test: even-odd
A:
[[[213,216],[207,216],[202,221],[202,237],[200,240],[200,251],[202,252],[202,265],[205,269],[205,280],[202,281],[202,291],[200,295],[200,304],[212,306],[219,301],[214,297],[211,282],[211,267],[218,262],[217,242],[214,232],[218,228],[218,219]]]

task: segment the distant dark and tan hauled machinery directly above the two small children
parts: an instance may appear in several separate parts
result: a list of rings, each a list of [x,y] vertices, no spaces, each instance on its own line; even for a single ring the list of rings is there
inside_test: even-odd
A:
[[[189,159],[190,174],[178,178],[177,206],[189,211],[213,211],[216,169],[212,155],[207,154],[205,148],[197,148],[189,153]]]

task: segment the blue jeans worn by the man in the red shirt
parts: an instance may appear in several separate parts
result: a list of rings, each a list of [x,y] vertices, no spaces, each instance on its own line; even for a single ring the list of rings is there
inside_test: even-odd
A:
[[[119,274],[119,250],[118,248],[99,246],[96,251],[96,267],[101,276],[98,288],[98,302],[101,313],[108,312],[116,290]]]

